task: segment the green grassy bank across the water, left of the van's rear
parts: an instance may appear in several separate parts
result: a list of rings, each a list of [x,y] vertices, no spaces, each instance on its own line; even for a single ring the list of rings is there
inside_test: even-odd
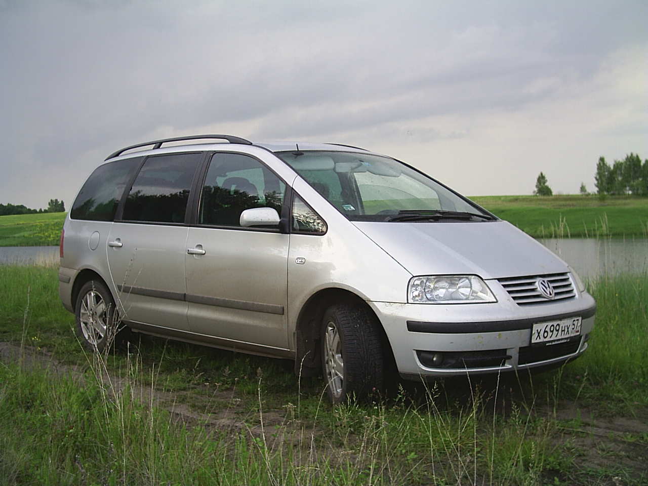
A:
[[[58,245],[66,213],[0,216],[0,246]]]

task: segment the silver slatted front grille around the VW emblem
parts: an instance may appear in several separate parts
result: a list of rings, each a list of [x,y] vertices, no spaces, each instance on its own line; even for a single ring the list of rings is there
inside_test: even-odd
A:
[[[538,290],[538,280],[549,281],[555,292],[553,299],[547,299]],[[562,299],[571,299],[576,293],[573,290],[569,273],[550,273],[548,275],[530,275],[529,277],[507,277],[498,279],[506,292],[517,305],[546,304]]]

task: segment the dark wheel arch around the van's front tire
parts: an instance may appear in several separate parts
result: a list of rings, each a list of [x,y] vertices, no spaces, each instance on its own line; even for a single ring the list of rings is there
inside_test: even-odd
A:
[[[395,366],[391,345],[382,323],[374,310],[357,294],[343,288],[325,288],[311,295],[302,306],[295,325],[295,375],[317,376],[321,371],[319,330],[325,310],[336,303],[348,303],[365,308],[373,318],[382,336],[383,359]]]

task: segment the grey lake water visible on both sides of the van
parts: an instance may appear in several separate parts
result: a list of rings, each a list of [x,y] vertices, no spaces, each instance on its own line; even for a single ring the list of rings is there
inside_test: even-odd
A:
[[[546,238],[544,246],[583,278],[605,273],[648,272],[648,238]],[[58,246],[0,247],[0,264],[58,265]]]

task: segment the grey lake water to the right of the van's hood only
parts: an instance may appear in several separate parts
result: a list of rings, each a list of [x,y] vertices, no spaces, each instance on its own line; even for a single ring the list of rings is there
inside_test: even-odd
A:
[[[538,241],[583,278],[648,272],[648,238],[544,238]]]

